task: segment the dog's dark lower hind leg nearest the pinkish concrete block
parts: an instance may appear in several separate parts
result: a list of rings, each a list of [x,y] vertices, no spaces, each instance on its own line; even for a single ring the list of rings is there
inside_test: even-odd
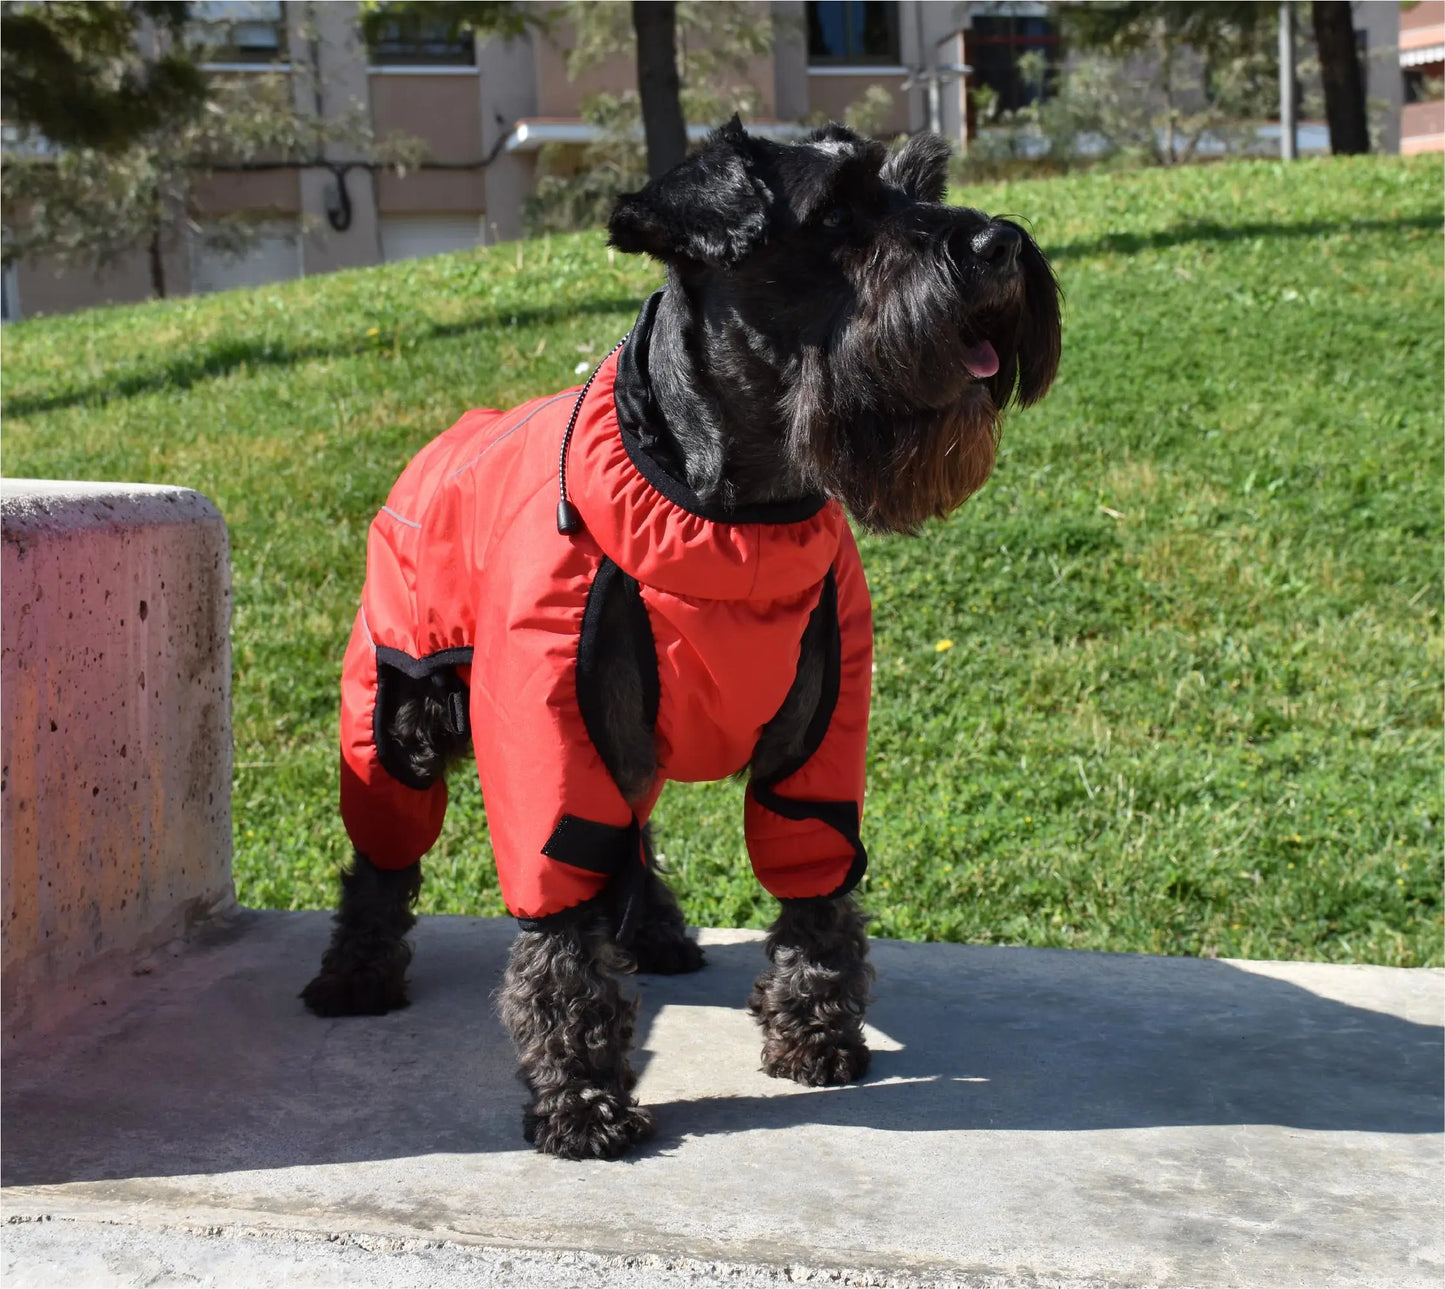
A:
[[[321,971],[301,991],[318,1016],[381,1016],[407,1004],[406,968],[416,925],[412,906],[422,890],[422,866],[377,868],[355,853],[341,873],[341,905]]]

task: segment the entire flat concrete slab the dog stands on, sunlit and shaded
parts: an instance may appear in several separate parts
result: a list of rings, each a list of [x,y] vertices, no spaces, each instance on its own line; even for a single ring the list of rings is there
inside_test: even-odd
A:
[[[874,1069],[764,1078],[750,932],[640,977],[621,1163],[543,1159],[507,922],[316,1020],[322,913],[244,913],[4,1051],[7,1285],[1438,1286],[1445,973],[880,941]],[[48,1221],[43,1218],[49,1218]]]

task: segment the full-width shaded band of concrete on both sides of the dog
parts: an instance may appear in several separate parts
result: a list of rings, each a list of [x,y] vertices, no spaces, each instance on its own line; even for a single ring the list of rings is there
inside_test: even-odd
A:
[[[4,1185],[234,1173],[527,1152],[523,1090],[491,994],[513,929],[422,919],[413,1001],[318,1020],[296,1000],[316,913],[249,915],[230,945],[133,981],[81,1023],[7,1043]],[[743,1010],[759,939],[709,944],[694,975],[639,977],[634,1159],[743,1131],[867,1127],[1091,1131],[1194,1124],[1435,1133],[1441,977],[1393,977],[1412,1019],[1192,958],[877,941],[861,1084],[759,1071]],[[1366,981],[1366,986],[1353,981]]]

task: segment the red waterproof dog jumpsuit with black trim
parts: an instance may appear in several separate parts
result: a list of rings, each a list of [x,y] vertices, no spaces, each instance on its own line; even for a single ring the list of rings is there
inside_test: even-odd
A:
[[[803,757],[749,786],[749,855],[780,899],[841,894],[867,864],[858,825],[873,624],[857,546],[837,501],[707,517],[643,451],[656,299],[578,409],[568,493],[582,532],[556,527],[558,455],[579,397],[568,390],[464,415],[406,467],[367,542],[341,679],[347,831],[383,868],[416,863],[436,841],[447,785],[405,782],[379,685],[392,669],[455,668],[470,684],[501,893],[525,925],[601,896],[636,866],[639,828],[666,779],[721,779],[747,764],[815,611],[831,618],[821,710]],[[644,688],[659,775],[636,811],[587,724],[595,605],[614,578],[650,636],[640,656],[656,666]]]

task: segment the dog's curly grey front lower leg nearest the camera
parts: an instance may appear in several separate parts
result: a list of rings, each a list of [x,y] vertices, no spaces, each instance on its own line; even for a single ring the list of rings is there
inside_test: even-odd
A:
[[[637,1003],[616,975],[630,965],[607,918],[523,931],[512,945],[497,1010],[532,1092],[522,1131],[545,1155],[616,1159],[652,1136],[627,1061]]]

